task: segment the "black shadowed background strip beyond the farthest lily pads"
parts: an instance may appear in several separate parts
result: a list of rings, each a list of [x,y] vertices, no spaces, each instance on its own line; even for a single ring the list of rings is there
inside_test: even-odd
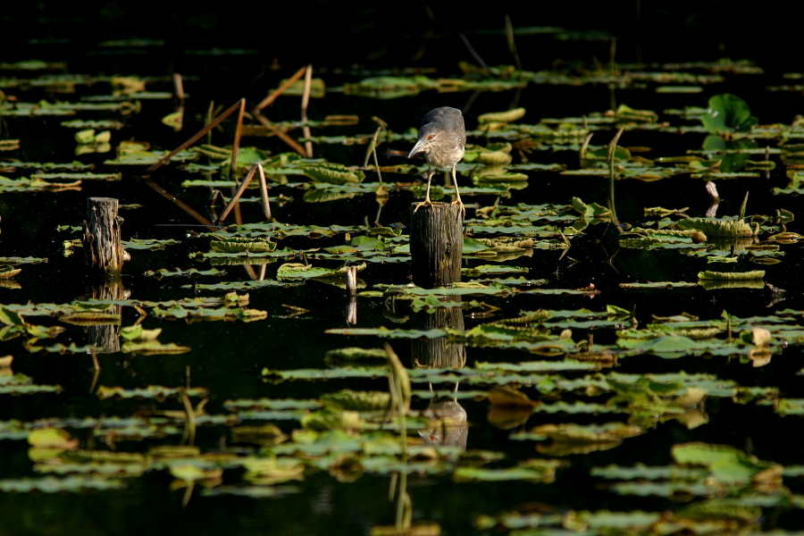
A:
[[[64,46],[77,58],[101,41],[153,38],[163,40],[164,46],[152,49],[158,54],[149,54],[150,59],[164,63],[166,71],[180,68],[188,50],[213,47],[254,49],[259,52],[257,62],[265,66],[278,62],[443,67],[472,61],[457,37],[460,32],[494,65],[511,63],[504,35],[508,14],[515,29],[595,29],[601,32],[601,44],[606,36],[614,36],[620,63],[731,57],[753,60],[766,69],[800,68],[796,3],[764,2],[750,9],[717,0],[516,2],[481,7],[415,0],[202,4],[6,2],[0,10],[0,58],[61,60],[67,52]],[[590,36],[575,38],[582,42]],[[549,39],[519,36],[517,46],[524,69],[543,69],[556,60]],[[562,57],[573,60],[567,49],[564,43]],[[588,62],[588,46],[578,50],[578,59]],[[600,46],[598,59],[607,61],[607,43]]]

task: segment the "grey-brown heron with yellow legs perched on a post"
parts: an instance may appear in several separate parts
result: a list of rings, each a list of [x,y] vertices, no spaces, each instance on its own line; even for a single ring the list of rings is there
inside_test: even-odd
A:
[[[424,197],[423,203],[416,205],[414,212],[419,210],[422,205],[432,205],[430,181],[435,173],[432,168],[451,168],[452,183],[455,185],[457,197],[452,203],[461,205],[461,213],[465,214],[455,174],[456,163],[464,157],[464,147],[466,147],[466,129],[464,116],[461,115],[460,110],[442,106],[424,115],[422,126],[419,127],[419,138],[410,155],[407,155],[408,158],[424,155],[424,160],[427,161],[427,195]]]

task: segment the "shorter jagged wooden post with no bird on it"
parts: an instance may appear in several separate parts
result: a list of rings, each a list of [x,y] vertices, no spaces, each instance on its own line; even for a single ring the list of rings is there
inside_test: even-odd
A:
[[[84,222],[84,245],[87,265],[105,275],[117,275],[122,264],[130,259],[121,244],[122,218],[117,215],[117,199],[90,197],[89,214]]]

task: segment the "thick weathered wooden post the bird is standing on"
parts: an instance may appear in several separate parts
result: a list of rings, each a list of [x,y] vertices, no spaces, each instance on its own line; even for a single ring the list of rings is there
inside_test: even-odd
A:
[[[463,214],[460,205],[414,203],[410,207],[410,255],[413,281],[423,289],[461,281],[464,253]],[[415,211],[415,212],[414,212]]]

